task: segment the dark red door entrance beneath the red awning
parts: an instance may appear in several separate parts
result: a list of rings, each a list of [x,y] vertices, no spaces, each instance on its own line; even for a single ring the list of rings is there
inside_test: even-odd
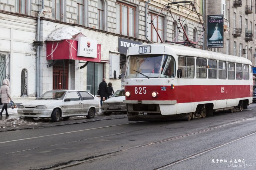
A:
[[[68,60],[58,60],[53,65],[53,90],[68,89],[68,71]]]

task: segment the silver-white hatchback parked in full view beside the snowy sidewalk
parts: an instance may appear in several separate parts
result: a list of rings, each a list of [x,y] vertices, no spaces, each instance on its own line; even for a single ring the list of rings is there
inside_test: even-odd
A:
[[[22,103],[18,109],[20,117],[50,117],[59,121],[60,117],[86,116],[93,118],[99,111],[100,102],[88,91],[49,90],[35,101]]]

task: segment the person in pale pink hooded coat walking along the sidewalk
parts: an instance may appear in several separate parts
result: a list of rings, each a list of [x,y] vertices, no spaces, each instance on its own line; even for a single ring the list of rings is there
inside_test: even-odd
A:
[[[7,104],[9,103],[9,99],[12,100],[11,94],[10,94],[10,82],[8,79],[3,80],[3,86],[0,89],[0,94],[1,94],[1,101],[4,104],[2,111],[0,112],[0,116],[2,116],[2,113],[5,109],[5,116],[9,116],[7,112]]]

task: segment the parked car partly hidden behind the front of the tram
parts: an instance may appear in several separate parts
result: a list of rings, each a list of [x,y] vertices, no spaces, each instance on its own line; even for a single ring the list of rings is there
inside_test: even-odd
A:
[[[123,103],[123,100],[125,100],[124,94],[124,89],[116,90],[116,92],[109,99],[105,100],[102,103],[102,113],[105,115],[109,115],[113,111],[127,112],[126,104]]]

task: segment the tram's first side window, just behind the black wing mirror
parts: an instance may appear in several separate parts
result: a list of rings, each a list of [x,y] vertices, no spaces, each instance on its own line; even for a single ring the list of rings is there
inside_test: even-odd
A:
[[[178,69],[182,70],[182,78],[194,78],[194,57],[178,57]]]

